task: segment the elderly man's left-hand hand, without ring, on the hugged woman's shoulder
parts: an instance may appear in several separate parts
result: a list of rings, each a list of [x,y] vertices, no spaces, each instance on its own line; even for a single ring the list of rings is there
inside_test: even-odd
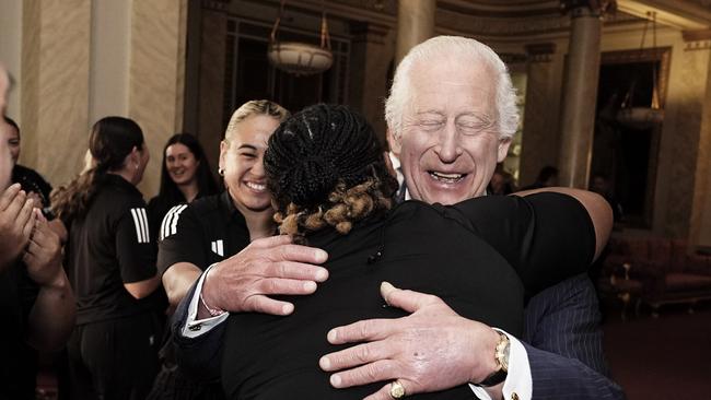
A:
[[[289,236],[265,237],[219,262],[202,284],[205,303],[231,313],[289,315],[294,306],[271,295],[303,295],[328,278],[326,251],[291,244]],[[198,314],[198,318],[201,318]]]

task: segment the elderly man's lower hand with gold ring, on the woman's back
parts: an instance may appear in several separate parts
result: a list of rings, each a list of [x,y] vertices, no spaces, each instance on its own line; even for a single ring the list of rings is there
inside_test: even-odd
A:
[[[387,304],[412,313],[398,319],[371,319],[328,332],[331,344],[365,342],[330,353],[319,361],[336,388],[387,381],[366,400],[391,400],[391,381],[407,395],[478,383],[497,368],[499,334],[490,327],[459,317],[441,298],[381,285]],[[341,370],[346,369],[346,370]]]

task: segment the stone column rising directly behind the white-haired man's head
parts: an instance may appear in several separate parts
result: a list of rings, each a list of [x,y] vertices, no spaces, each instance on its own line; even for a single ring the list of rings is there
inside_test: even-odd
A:
[[[435,0],[400,0],[397,9],[395,66],[418,44],[434,36]]]

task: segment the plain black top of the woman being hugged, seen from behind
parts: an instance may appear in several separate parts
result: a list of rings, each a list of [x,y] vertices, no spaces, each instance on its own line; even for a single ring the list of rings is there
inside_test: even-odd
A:
[[[517,336],[526,291],[533,294],[583,272],[595,250],[588,214],[571,197],[485,197],[454,207],[407,201],[346,236],[307,237],[328,251],[329,279],[310,296],[284,296],[288,317],[232,314],[224,336],[222,380],[230,399],[362,399],[383,383],[334,389],[318,367],[337,326],[397,318],[384,307],[383,281],[440,296],[461,316]],[[461,386],[419,398],[471,399]],[[409,397],[408,397],[409,398]]]

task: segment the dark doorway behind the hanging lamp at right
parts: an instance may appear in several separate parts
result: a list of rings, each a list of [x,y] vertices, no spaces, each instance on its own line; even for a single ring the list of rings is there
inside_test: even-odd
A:
[[[663,98],[668,52],[606,52],[601,64],[591,173],[609,179],[611,195],[622,208],[621,222],[631,227],[652,226],[662,126],[629,127],[617,116],[626,98],[628,106],[651,105],[655,73]]]

